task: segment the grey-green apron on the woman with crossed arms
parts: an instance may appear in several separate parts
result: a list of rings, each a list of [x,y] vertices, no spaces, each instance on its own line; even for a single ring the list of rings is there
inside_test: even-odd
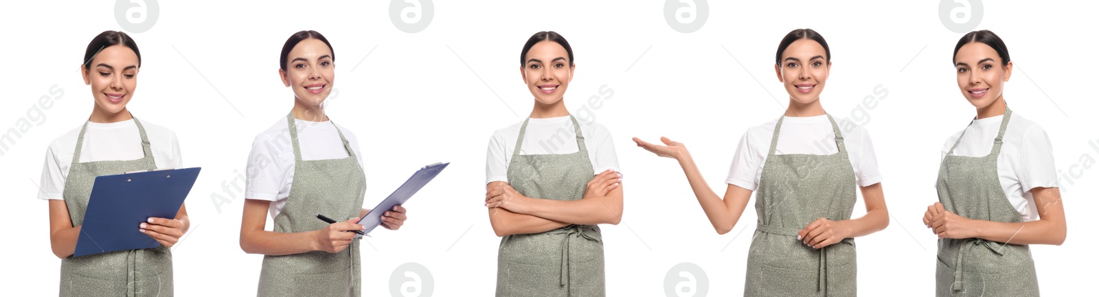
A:
[[[563,155],[519,155],[526,123],[519,129],[508,165],[508,183],[528,197],[555,201],[584,198],[595,176],[580,124],[569,115],[579,151]],[[500,240],[496,296],[606,296],[602,235],[595,225],[569,225]]]

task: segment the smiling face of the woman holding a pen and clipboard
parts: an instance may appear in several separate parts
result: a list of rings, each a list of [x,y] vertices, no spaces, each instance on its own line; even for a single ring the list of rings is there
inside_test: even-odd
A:
[[[332,92],[335,64],[332,49],[317,38],[302,39],[287,55],[286,70],[279,69],[282,84],[306,106],[320,107]]]

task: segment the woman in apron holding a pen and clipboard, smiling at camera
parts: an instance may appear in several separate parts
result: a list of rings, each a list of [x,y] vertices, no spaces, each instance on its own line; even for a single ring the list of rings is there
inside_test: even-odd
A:
[[[335,52],[315,31],[295,33],[279,59],[282,84],[293,92],[293,108],[256,136],[248,157],[241,249],[264,254],[258,296],[360,296],[355,224],[363,208],[366,178],[358,141],[324,113],[335,82]],[[274,231],[265,230],[267,214]],[[404,208],[380,218],[397,230]],[[317,215],[345,221],[326,224]]]

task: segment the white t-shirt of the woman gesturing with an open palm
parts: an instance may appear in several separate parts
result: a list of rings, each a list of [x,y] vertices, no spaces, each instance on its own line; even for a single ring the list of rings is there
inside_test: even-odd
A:
[[[741,144],[736,147],[736,155],[733,156],[733,164],[729,169],[725,183],[751,191],[759,186],[759,176],[767,161],[767,151],[770,150],[775,124],[778,124],[778,118],[748,128],[744,133]],[[852,169],[855,170],[855,181],[858,185],[868,186],[881,182],[869,133],[845,118],[836,118],[836,125],[843,135],[847,158],[851,160]],[[828,115],[787,116],[782,119],[775,155],[832,155],[839,151],[835,146],[835,133],[832,132]]]

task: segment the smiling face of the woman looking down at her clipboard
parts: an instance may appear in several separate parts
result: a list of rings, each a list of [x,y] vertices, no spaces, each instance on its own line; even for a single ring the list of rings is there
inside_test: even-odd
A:
[[[137,88],[137,54],[124,45],[112,45],[91,58],[91,66],[81,65],[84,83],[91,85],[96,100],[92,113],[113,117],[125,111]],[[98,117],[97,118],[102,118]]]

